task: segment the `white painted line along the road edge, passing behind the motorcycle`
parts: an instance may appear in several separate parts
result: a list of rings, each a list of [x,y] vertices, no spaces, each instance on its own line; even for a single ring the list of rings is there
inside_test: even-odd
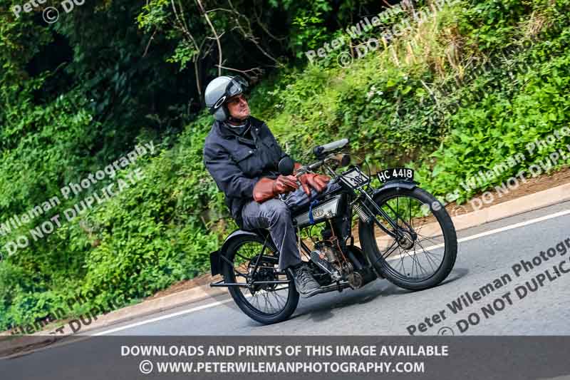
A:
[[[524,227],[527,225],[532,225],[534,223],[538,223],[538,222],[542,222],[544,220],[549,220],[549,219],[553,219],[555,217],[561,217],[564,215],[569,215],[570,214],[570,210],[566,210],[566,211],[560,211],[560,212],[556,212],[554,214],[551,215],[545,215],[544,217],[537,217],[535,219],[532,220],[527,220],[526,222],[520,222],[520,223],[516,223],[514,225],[507,225],[505,227],[501,227],[501,228],[495,228],[494,230],[490,230],[487,232],[481,232],[480,234],[477,235],[472,235],[472,236],[468,236],[468,237],[463,237],[462,239],[457,240],[458,243],[461,242],[467,242],[469,240],[474,240],[474,239],[478,239],[480,237],[484,237],[484,236],[489,236],[489,235],[494,235],[494,234],[498,234],[499,232],[504,232],[504,231],[508,231],[508,230],[514,230],[514,228],[519,228],[519,227]],[[437,247],[437,246],[434,246]],[[430,247],[433,248],[433,247]],[[115,329],[110,329],[110,330],[105,330],[103,332],[98,332],[97,334],[93,334],[91,335],[92,337],[97,337],[99,335],[106,335],[106,334],[112,334],[113,332],[120,332],[126,329],[131,329],[133,327],[138,327],[138,326],[142,326],[144,324],[149,324],[152,322],[158,322],[158,321],[162,321],[163,319],[169,319],[172,317],[178,317],[180,315],[185,315],[185,314],[190,314],[192,312],[198,312],[199,310],[204,310],[204,309],[209,309],[210,307],[216,307],[219,306],[221,304],[225,304],[227,302],[232,302],[234,299],[230,298],[230,299],[226,299],[224,301],[219,301],[219,302],[214,302],[212,304],[205,304],[199,307],[192,307],[192,309],[187,309],[187,310],[182,310],[181,312],[175,312],[172,314],[166,314],[163,315],[162,317],[156,317],[156,318],[152,318],[152,319],[147,319],[146,321],[141,321],[141,322],[136,322],[133,324],[128,324],[126,326],[122,326],[122,327],[117,327]]]

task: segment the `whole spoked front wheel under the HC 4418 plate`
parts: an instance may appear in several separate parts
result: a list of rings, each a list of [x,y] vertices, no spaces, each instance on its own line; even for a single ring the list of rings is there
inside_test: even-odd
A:
[[[397,220],[398,226],[410,232],[405,235],[405,239],[398,242],[385,234],[375,222],[359,221],[358,235],[361,238],[363,250],[375,269],[393,284],[410,290],[429,289],[447,278],[457,257],[457,235],[445,207],[433,195],[420,188],[413,190],[392,188],[380,192],[375,196],[374,201],[390,215],[392,220]],[[398,209],[398,207],[401,208]],[[378,216],[378,220],[388,230],[393,230],[381,217]],[[425,226],[419,227],[417,225],[419,222],[425,222],[427,228],[424,230]],[[431,234],[432,231],[434,237],[431,235],[425,237],[421,233]],[[426,248],[429,249],[426,250]],[[394,255],[396,249],[398,249],[398,254]],[[433,273],[426,270],[427,265],[425,267],[421,265],[418,256],[421,252],[419,251],[423,251],[427,257],[424,265],[427,262],[433,269]],[[441,257],[439,263],[436,262],[436,257]],[[404,265],[404,260],[410,259],[411,265]],[[398,266],[398,261],[402,262],[401,266]],[[414,275],[415,269],[423,275]]]

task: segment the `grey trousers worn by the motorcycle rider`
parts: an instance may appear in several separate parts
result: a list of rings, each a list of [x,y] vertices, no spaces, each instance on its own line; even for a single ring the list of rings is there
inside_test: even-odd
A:
[[[327,190],[338,187],[338,184],[328,183]],[[246,230],[265,228],[269,230],[271,239],[279,250],[279,270],[301,262],[297,247],[296,231],[291,221],[291,211],[308,205],[317,192],[311,189],[311,198],[303,188],[282,195],[280,198],[267,200],[263,203],[252,201],[242,208],[243,227]]]

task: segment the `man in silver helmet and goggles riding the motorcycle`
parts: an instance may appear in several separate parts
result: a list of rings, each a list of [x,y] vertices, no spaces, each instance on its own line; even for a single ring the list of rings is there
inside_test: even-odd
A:
[[[301,297],[310,297],[320,286],[299,255],[291,210],[326,190],[330,178],[306,173],[299,187],[294,175],[279,173],[286,154],[267,125],[250,115],[247,86],[240,76],[220,76],[208,84],[205,101],[215,121],[204,143],[204,165],[237,225],[268,229],[280,252],[279,270],[288,270]],[[300,167],[295,164],[295,170]]]

